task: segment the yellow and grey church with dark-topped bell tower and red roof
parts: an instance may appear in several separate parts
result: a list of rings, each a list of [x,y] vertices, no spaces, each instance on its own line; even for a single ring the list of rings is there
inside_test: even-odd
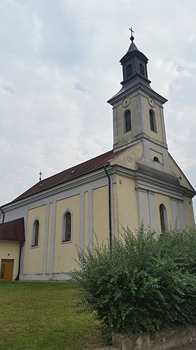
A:
[[[148,79],[148,58],[131,38],[120,60],[113,149],[43,179],[0,209],[0,281],[66,280],[77,247],[112,244],[141,223],[164,233],[195,225],[195,190],[168,153],[163,105]]]

